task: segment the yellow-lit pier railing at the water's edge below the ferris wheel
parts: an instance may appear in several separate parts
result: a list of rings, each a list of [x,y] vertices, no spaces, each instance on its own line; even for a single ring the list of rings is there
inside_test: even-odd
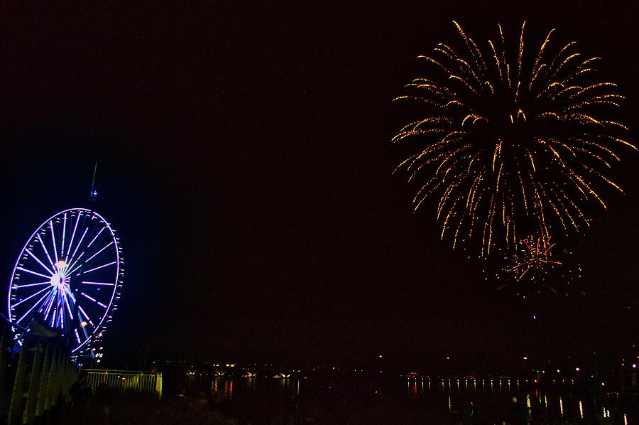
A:
[[[162,398],[162,372],[105,369],[87,369],[87,372],[94,392],[102,386],[117,388],[122,392],[157,394]]]

